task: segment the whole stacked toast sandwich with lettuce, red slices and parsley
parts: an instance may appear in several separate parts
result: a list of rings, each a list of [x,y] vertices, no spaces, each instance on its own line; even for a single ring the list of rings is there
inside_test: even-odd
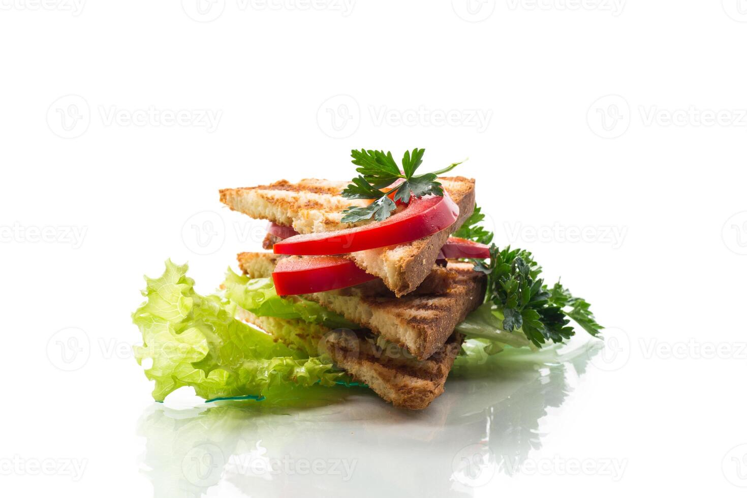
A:
[[[162,401],[287,399],[344,385],[398,408],[444,392],[459,357],[562,343],[601,326],[530,252],[499,249],[475,181],[419,174],[424,150],[354,150],[351,181],[281,180],[220,190],[232,211],[269,222],[264,252],[240,252],[220,289],[194,289],[186,265],[146,278],[135,349]]]

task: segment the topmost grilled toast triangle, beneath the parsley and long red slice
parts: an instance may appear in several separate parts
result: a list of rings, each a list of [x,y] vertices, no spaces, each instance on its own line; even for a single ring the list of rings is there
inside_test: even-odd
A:
[[[421,284],[430,273],[441,246],[474,210],[474,180],[456,176],[438,178],[438,181],[459,206],[459,218],[453,225],[413,242],[353,252],[346,256],[363,270],[381,278],[397,297],[412,292]],[[345,181],[306,179],[291,184],[282,180],[260,187],[220,190],[220,202],[252,218],[292,226],[300,234],[341,230],[370,223],[367,220],[351,225],[341,221],[344,208],[365,206],[370,202],[344,198],[340,192],[346,186]],[[266,240],[265,248],[270,243],[271,240]]]

